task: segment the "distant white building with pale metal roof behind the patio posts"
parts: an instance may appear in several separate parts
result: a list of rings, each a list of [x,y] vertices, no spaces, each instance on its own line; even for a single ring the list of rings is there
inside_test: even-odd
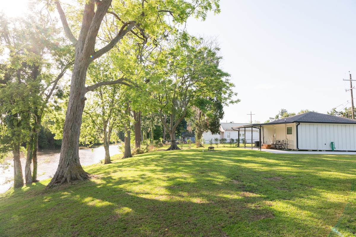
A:
[[[237,130],[232,130],[233,127],[239,127],[239,126],[244,126],[248,125],[249,123],[220,123],[220,134],[211,134],[211,132],[205,132],[203,133],[203,138],[205,140],[205,143],[209,143],[211,139],[213,139],[213,143],[215,143],[214,138],[226,138],[227,142],[230,141],[231,138],[233,138],[235,141],[239,139],[239,131]],[[244,129],[240,129],[240,143],[242,143],[242,139],[246,139],[246,143],[252,143],[255,141],[258,141],[259,139],[259,130],[258,128],[253,128],[252,129],[252,134],[251,134],[251,128],[246,128],[246,133]]]

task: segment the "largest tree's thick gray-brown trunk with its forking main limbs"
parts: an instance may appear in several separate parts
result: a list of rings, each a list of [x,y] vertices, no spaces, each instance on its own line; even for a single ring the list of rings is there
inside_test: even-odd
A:
[[[66,119],[64,120],[61,155],[59,157],[57,171],[47,187],[74,180],[88,179],[88,173],[84,171],[79,162],[79,134],[86,100],[85,93],[87,90],[93,91],[95,88],[104,84],[97,83],[90,88],[86,88],[85,77],[87,70],[93,60],[111,50],[127,32],[130,32],[136,23],[135,21],[129,21],[123,24],[115,38],[108,45],[95,51],[96,36],[98,35],[101,22],[111,5],[111,0],[85,1],[83,20],[78,39],[76,39],[70,31],[66,15],[64,14],[60,2],[56,0],[55,4],[59,16],[61,17],[64,32],[75,47],[75,56]]]

